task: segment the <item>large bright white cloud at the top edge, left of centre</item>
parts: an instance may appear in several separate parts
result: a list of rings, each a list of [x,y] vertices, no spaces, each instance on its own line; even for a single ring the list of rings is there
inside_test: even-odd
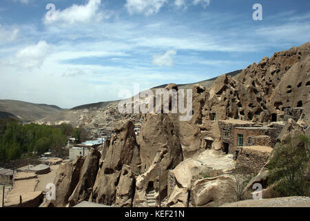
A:
[[[45,25],[58,23],[61,26],[65,26],[74,23],[101,21],[105,16],[99,11],[100,6],[101,0],[89,0],[85,5],[73,4],[71,7],[65,8],[64,10],[55,10],[54,15],[50,16],[47,14],[49,16],[44,17],[44,23]]]

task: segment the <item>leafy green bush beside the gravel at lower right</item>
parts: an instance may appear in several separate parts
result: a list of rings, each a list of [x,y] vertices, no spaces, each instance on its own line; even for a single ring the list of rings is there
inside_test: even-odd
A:
[[[309,137],[298,135],[275,146],[267,167],[277,196],[309,195],[309,144]]]

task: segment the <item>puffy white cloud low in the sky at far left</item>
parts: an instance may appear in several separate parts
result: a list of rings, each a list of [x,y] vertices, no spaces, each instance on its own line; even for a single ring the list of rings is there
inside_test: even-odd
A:
[[[17,51],[13,63],[20,68],[26,68],[28,70],[40,68],[48,56],[49,50],[49,44],[45,41],[39,41],[36,45],[27,46]]]

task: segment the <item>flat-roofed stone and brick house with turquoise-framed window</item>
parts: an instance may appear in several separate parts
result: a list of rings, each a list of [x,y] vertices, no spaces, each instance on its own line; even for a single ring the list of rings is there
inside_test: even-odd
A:
[[[219,121],[218,126],[223,152],[234,155],[239,169],[258,173],[267,162],[285,122],[271,122],[262,126],[228,119]]]

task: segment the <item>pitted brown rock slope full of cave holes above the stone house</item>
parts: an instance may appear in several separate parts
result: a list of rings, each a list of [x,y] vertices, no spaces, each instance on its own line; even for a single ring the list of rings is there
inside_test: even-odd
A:
[[[251,64],[236,77],[221,75],[211,88],[195,85],[193,117],[180,122],[180,141],[185,157],[205,146],[204,137],[219,149],[218,119],[270,122],[283,119],[285,107],[303,107],[309,125],[310,43],[276,52],[270,59]]]

